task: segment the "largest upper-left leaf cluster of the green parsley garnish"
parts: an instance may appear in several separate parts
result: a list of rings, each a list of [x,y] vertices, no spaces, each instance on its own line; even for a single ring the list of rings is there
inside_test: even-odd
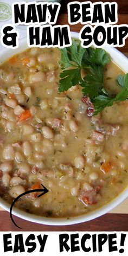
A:
[[[72,46],[60,49],[61,68],[59,92],[67,91],[74,85],[80,84],[82,92],[94,98],[103,88],[103,67],[110,61],[110,57],[103,49],[82,48],[80,42],[73,40]],[[81,78],[81,69],[85,69],[86,76]]]

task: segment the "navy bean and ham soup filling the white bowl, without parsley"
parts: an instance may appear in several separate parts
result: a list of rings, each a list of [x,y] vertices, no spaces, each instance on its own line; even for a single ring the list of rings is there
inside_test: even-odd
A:
[[[58,93],[60,51],[31,48],[0,67],[0,195],[29,213],[70,217],[114,199],[128,183],[128,101],[88,117],[89,99],[74,86]],[[119,92],[112,62],[104,84]]]

